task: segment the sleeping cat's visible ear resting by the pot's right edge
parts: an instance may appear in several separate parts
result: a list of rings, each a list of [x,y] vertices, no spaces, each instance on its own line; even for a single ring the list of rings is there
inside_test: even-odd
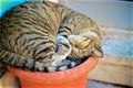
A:
[[[100,46],[94,45],[94,47],[91,50],[91,55],[102,58],[103,57],[103,51]]]

